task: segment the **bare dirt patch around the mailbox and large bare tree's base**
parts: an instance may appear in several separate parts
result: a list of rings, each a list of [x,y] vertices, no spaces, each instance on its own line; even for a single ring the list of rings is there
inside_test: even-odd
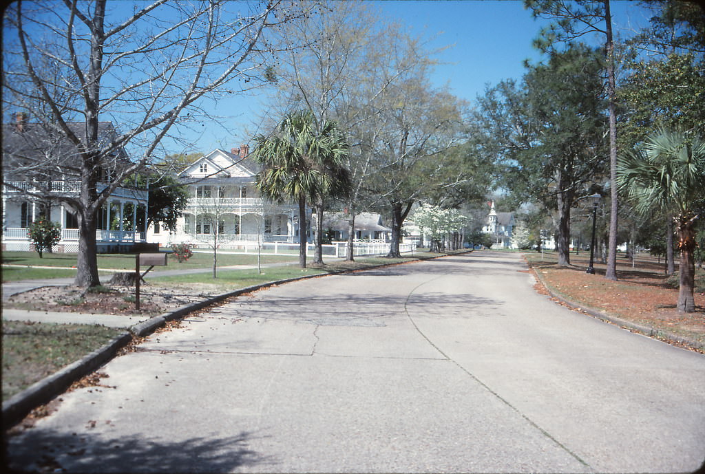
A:
[[[136,311],[134,287],[103,286],[90,292],[73,286],[42,287],[5,299],[3,307],[62,313],[156,316],[221,293],[223,289],[219,285],[142,285],[140,311]]]

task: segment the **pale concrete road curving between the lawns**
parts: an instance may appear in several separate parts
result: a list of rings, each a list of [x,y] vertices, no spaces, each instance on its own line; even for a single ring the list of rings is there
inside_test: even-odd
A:
[[[70,472],[691,472],[705,356],[553,304],[489,251],[240,297],[11,439]]]

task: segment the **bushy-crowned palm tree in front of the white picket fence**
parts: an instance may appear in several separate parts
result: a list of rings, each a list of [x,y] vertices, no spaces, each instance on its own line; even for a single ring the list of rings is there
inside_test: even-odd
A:
[[[322,201],[345,188],[349,178],[341,162],[348,146],[335,123],[326,121],[317,130],[310,111],[289,113],[278,132],[278,136],[255,138],[255,159],[262,165],[257,187],[273,201],[293,199],[298,203],[299,263],[306,268],[306,203]],[[319,222],[321,218],[319,215]],[[318,237],[322,238],[321,232]]]

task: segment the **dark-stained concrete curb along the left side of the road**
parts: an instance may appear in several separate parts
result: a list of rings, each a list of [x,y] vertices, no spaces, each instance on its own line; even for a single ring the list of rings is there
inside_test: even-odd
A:
[[[93,370],[96,370],[104,363],[110,361],[110,359],[117,354],[118,350],[128,345],[133,340],[133,338],[145,337],[147,335],[150,335],[155,330],[164,326],[167,321],[183,318],[184,316],[187,316],[188,314],[193,313],[194,311],[199,311],[200,309],[210,306],[214,303],[219,303],[220,301],[231,297],[238,297],[241,294],[255,292],[258,289],[273,287],[276,285],[283,285],[284,283],[295,282],[298,280],[307,280],[308,278],[323,277],[327,275],[343,275],[345,273],[353,273],[357,271],[373,270],[375,268],[403,265],[405,263],[415,261],[434,260],[436,258],[467,254],[469,252],[470,251],[458,252],[455,254],[439,255],[423,259],[417,258],[412,261],[385,263],[382,265],[359,268],[357,270],[342,270],[340,272],[334,273],[317,273],[316,275],[302,275],[300,277],[287,278],[286,280],[264,282],[260,283],[259,285],[252,285],[250,287],[236,289],[232,292],[219,294],[215,297],[205,299],[204,301],[199,301],[197,303],[182,306],[181,308],[178,308],[175,311],[164,313],[159,316],[154,316],[154,318],[150,318],[146,321],[143,321],[142,323],[137,323],[135,325],[130,326],[130,328],[128,328],[128,332],[125,332],[123,335],[112,339],[100,349],[91,352],[79,361],[76,361],[71,365],[62,368],[58,372],[49,375],[48,377],[43,378],[38,382],[35,382],[35,384],[31,385],[27,389],[24,389],[22,392],[14,395],[13,397],[11,397],[11,399],[4,401],[2,404],[3,430],[12,428],[14,425],[20,423],[20,421],[22,421],[25,416],[30,413],[30,411],[37,408],[37,406],[46,404],[55,397],[58,397],[63,392],[66,392],[66,389],[68,387],[71,387],[71,384],[73,382],[79,380],[85,375],[88,375]]]

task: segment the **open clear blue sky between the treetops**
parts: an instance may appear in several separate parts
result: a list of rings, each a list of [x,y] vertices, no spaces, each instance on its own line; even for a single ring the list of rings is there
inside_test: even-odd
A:
[[[407,25],[413,35],[434,38],[432,49],[451,46],[439,56],[444,64],[436,68],[433,80],[438,86],[450,85],[451,91],[469,102],[482,94],[486,84],[503,79],[519,79],[525,73],[523,61],[540,60],[532,47],[545,20],[534,20],[520,0],[383,0],[370,1],[379,7],[383,17]],[[613,0],[615,35],[636,25],[645,25],[648,12],[636,1]],[[223,128],[213,127],[197,139],[197,151],[207,153],[215,148],[230,149],[249,142],[254,131],[252,116],[262,107],[257,97],[240,97],[232,104],[219,104],[231,137]],[[224,113],[223,111],[228,111]]]

